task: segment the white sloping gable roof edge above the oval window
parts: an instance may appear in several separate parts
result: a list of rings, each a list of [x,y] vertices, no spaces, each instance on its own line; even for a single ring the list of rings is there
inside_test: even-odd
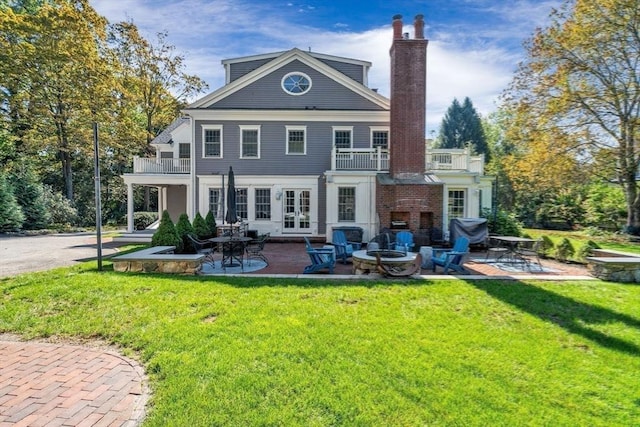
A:
[[[327,77],[331,78],[332,80],[336,81],[342,86],[345,86],[351,91],[359,94],[360,96],[367,99],[368,101],[384,109],[389,109],[389,99],[378,94],[376,91],[369,89],[368,87],[356,82],[355,80],[347,77],[340,71],[336,70],[335,68],[325,64],[324,62],[314,57],[314,55],[319,56],[320,54],[315,54],[315,53],[310,54],[298,48],[293,48],[286,52],[282,52],[274,55],[277,55],[277,56],[275,56],[274,59],[272,59],[268,63],[245,74],[244,76],[238,78],[237,80],[234,80],[233,82],[221,87],[220,89],[210,93],[209,95],[206,95],[203,98],[193,102],[192,104],[187,106],[186,110],[196,109],[196,108],[207,108],[215,104],[216,102],[220,101],[221,99],[239,91],[240,89],[247,87],[251,83],[259,80],[260,78],[266,76],[267,74],[272,73],[273,71],[295,60],[298,60],[303,64],[306,64],[309,67],[314,68],[316,71],[326,75]],[[269,56],[266,55],[264,57],[268,58]],[[338,57],[331,57],[329,55],[323,55],[322,57],[327,59],[331,58],[335,60],[343,59]],[[249,57],[249,58],[253,59],[258,57]],[[360,61],[360,62],[363,62],[363,61]]]

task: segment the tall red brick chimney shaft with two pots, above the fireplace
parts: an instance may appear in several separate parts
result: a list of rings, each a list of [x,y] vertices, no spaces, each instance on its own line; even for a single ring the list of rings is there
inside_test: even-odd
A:
[[[411,178],[425,171],[427,43],[424,20],[416,15],[415,38],[402,34],[402,16],[393,17],[391,45],[390,173]]]

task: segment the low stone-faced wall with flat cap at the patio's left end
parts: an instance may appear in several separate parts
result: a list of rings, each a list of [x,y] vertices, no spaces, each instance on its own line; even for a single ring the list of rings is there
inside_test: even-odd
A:
[[[198,274],[204,254],[174,254],[175,246],[154,246],[112,258],[119,272]]]

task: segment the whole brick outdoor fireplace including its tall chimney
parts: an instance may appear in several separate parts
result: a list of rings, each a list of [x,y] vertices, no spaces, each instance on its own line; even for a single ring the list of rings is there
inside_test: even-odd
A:
[[[424,235],[442,229],[443,184],[425,171],[428,41],[422,15],[415,17],[414,28],[410,39],[402,33],[402,16],[393,17],[390,164],[388,174],[378,175],[376,210],[381,228]]]

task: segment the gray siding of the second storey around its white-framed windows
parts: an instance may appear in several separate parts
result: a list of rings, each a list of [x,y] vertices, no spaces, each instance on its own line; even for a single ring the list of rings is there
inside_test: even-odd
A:
[[[223,126],[223,159],[202,158],[203,124]],[[239,125],[261,125],[259,159],[240,159]],[[307,154],[287,155],[286,126],[301,125],[307,126]],[[369,126],[381,126],[382,123],[197,121],[195,124],[196,173],[205,175],[222,173],[228,171],[229,166],[233,166],[236,174],[321,175],[331,169],[332,126],[335,125],[353,125],[353,147],[368,148],[370,147]]]

